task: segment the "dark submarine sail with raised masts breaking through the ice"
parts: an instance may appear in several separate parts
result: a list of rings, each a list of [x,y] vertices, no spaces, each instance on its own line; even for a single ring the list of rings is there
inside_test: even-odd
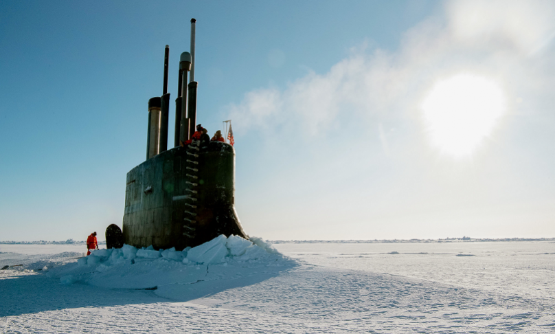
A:
[[[195,27],[196,20],[191,19],[191,49],[179,59],[174,147],[168,149],[170,49],[166,45],[163,93],[148,100],[146,160],[127,173],[123,228],[115,224],[106,228],[107,248],[125,243],[182,250],[220,234],[249,238],[235,210],[234,146],[192,138],[198,89],[194,80]]]

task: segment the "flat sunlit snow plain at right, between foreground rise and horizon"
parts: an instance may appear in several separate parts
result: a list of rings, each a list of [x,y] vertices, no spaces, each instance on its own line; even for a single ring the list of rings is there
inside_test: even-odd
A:
[[[534,300],[555,300],[553,241],[289,243],[275,247],[291,258],[320,267],[392,274]]]

